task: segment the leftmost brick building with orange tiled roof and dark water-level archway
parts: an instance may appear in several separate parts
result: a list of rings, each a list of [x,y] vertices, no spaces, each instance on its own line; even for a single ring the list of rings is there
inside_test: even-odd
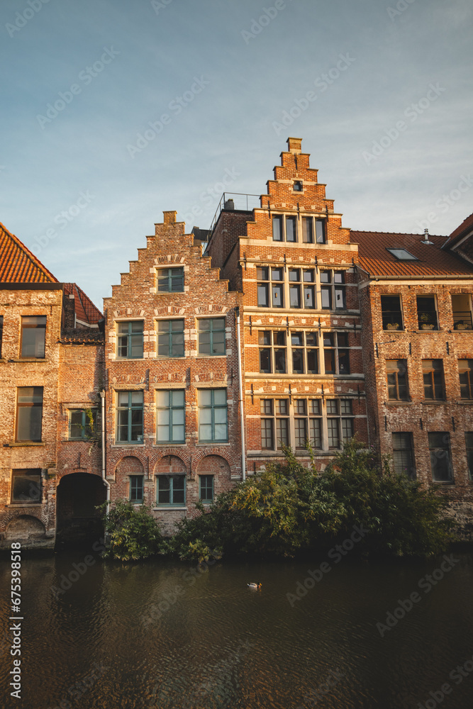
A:
[[[48,547],[57,516],[94,520],[104,497],[100,455],[78,425],[98,389],[102,316],[3,225],[0,293],[0,540]]]

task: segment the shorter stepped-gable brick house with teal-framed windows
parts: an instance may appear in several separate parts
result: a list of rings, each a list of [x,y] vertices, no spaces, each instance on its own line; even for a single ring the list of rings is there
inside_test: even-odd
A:
[[[164,213],[105,298],[111,499],[152,507],[166,531],[242,476],[235,308],[201,243]]]

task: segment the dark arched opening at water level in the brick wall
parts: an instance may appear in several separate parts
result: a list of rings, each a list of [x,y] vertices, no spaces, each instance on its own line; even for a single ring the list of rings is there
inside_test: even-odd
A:
[[[70,473],[57,486],[56,544],[68,546],[99,539],[104,532],[101,505],[106,499],[104,481],[90,473]]]

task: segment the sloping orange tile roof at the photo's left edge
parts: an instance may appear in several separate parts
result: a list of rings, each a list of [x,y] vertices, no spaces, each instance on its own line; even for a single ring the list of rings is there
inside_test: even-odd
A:
[[[58,283],[18,237],[0,223],[0,283]]]

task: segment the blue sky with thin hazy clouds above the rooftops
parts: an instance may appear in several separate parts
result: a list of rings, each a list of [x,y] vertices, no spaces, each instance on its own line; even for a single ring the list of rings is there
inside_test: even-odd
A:
[[[302,138],[354,230],[472,213],[471,0],[2,0],[0,221],[99,308]],[[236,203],[238,206],[238,203]],[[254,204],[251,204],[254,206]]]

